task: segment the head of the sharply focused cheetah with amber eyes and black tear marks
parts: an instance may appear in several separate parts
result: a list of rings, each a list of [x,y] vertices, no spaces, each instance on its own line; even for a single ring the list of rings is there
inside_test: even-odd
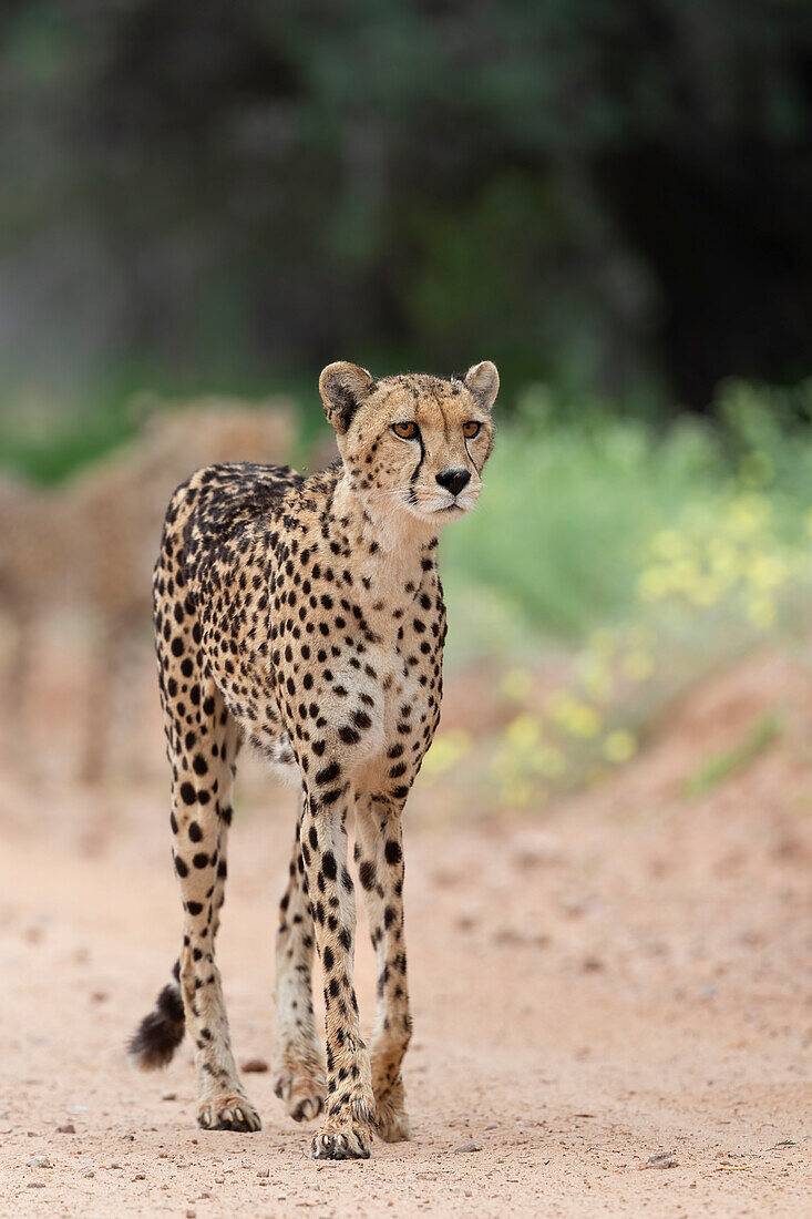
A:
[[[474,507],[494,446],[499,373],[489,360],[462,380],[423,373],[373,380],[334,363],[319,393],[354,491],[376,517],[408,513],[436,530]]]

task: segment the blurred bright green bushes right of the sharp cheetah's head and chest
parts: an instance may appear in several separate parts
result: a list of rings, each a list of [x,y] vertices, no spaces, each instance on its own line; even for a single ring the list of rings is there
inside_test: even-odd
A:
[[[688,547],[679,562],[690,564],[677,585],[690,603],[718,600],[740,567],[756,581],[752,595],[768,595],[758,581],[775,564],[789,572],[780,546],[808,542],[812,436],[797,423],[808,397],[808,385],[794,394],[730,385],[721,423],[686,417],[661,433],[601,403],[528,390],[499,433],[477,512],[443,538],[451,653],[521,652],[540,634],[573,644],[628,620],[652,539],[675,528]],[[745,529],[755,517],[757,531],[741,545],[761,550],[736,550],[733,569],[711,585],[705,551],[730,549],[723,536],[717,546],[728,516],[734,534],[743,516]]]

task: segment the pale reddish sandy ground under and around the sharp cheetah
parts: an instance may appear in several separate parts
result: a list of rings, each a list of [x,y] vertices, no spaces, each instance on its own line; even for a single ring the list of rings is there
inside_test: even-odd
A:
[[[711,737],[735,741],[777,697],[775,745],[682,800]],[[0,1214],[808,1215],[810,727],[808,683],[767,658],[554,811],[449,820],[423,789],[406,830],[413,1140],[326,1165],[271,1074],[245,1076],[265,1126],[241,1135],[195,1126],[188,1046],[162,1075],[126,1064],[179,935],[162,783],[101,796],[6,777]],[[269,1059],[293,817],[268,783],[233,834],[219,962],[239,1062]],[[368,1025],[366,942],[357,974]],[[646,1170],[658,1152],[674,1167]]]

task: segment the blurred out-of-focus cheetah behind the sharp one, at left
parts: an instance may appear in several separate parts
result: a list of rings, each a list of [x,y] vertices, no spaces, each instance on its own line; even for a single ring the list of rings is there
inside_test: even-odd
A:
[[[78,778],[90,785],[110,772],[116,703],[133,713],[126,661],[149,629],[163,505],[194,464],[263,461],[293,438],[284,399],[256,407],[223,397],[150,400],[134,408],[138,435],[59,489],[0,471],[0,697],[17,706],[0,747],[35,756],[30,701],[45,625],[66,608],[78,612],[94,640],[78,751]]]

